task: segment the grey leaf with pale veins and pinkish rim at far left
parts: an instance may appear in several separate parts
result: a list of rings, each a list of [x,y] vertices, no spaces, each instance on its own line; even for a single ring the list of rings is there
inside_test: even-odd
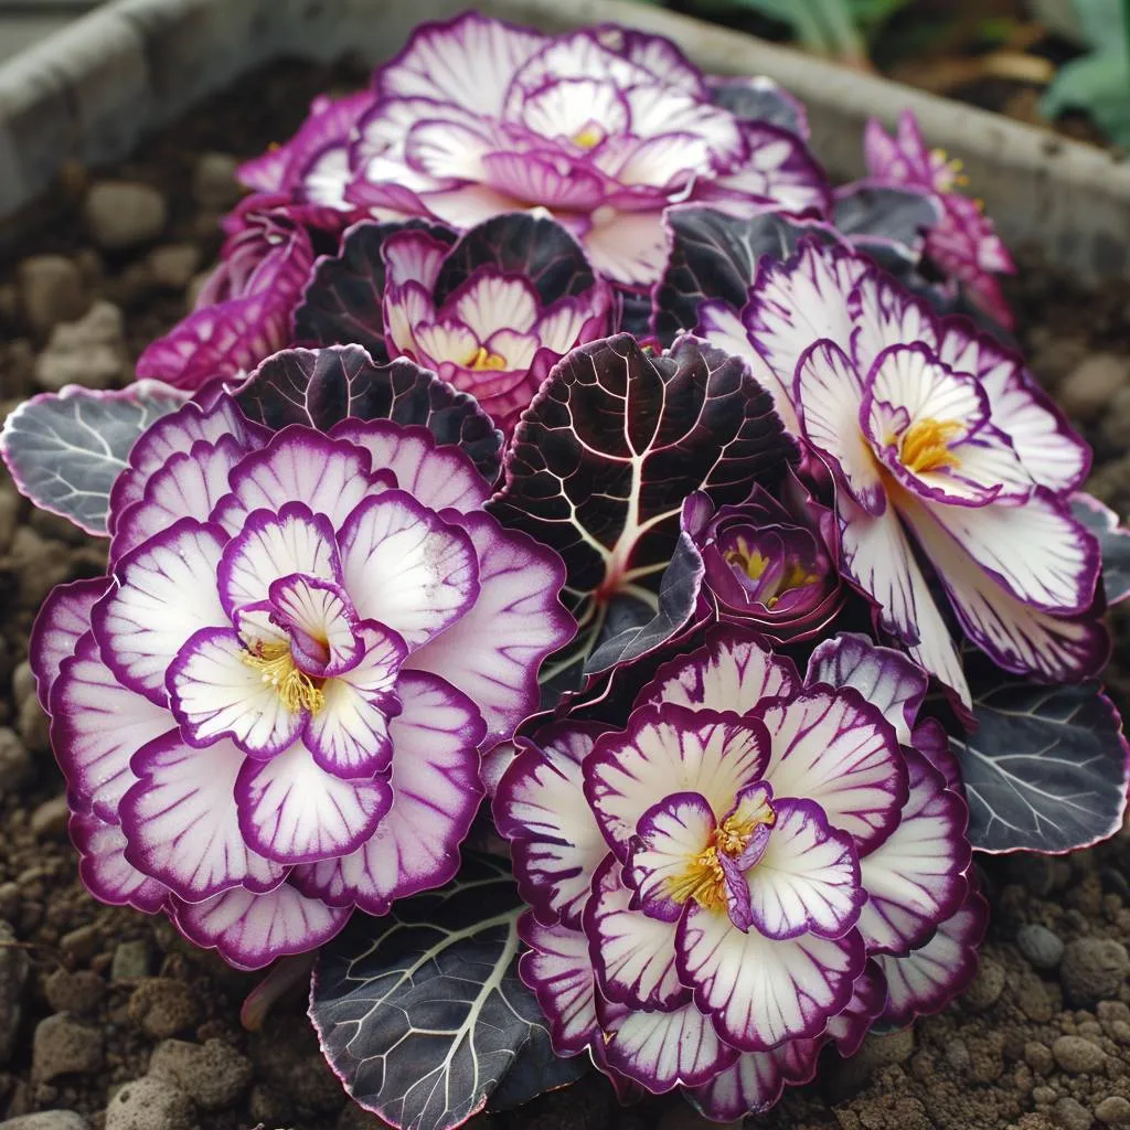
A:
[[[111,392],[70,385],[33,397],[11,412],[0,454],[36,506],[105,537],[110,488],[125,470],[130,450],[154,420],[184,400],[151,381]]]

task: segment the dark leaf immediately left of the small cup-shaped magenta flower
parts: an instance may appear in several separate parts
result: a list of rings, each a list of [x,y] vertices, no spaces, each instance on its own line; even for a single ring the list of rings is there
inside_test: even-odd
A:
[[[310,346],[357,345],[388,360],[384,342],[384,262],[381,246],[390,235],[420,228],[436,240],[455,242],[450,228],[420,220],[356,224],[341,250],[320,259],[294,315],[294,340]]]

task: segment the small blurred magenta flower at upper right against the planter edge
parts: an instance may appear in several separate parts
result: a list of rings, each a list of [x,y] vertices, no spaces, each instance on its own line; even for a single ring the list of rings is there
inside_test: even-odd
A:
[[[956,191],[967,181],[960,172],[962,163],[951,160],[941,149],[927,149],[910,110],[899,114],[894,137],[872,118],[867,124],[863,153],[876,181],[936,194],[942,220],[927,234],[927,255],[965,287],[974,305],[1005,329],[1012,329],[1011,311],[994,276],[1010,275],[1016,266],[981,202]]]

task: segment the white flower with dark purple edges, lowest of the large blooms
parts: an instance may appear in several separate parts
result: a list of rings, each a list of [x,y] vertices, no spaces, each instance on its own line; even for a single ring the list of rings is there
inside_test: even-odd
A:
[[[721,627],[623,730],[525,744],[494,810],[558,1053],[729,1121],[810,1079],[828,1041],[850,1054],[960,992],[984,907],[925,689],[859,636],[802,680]]]

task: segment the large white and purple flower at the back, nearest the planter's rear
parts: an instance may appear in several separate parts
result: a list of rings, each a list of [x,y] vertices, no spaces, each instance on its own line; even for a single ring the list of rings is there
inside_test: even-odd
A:
[[[825,176],[797,134],[719,104],[678,47],[640,32],[551,37],[468,14],[418,28],[374,90],[347,160],[336,137],[322,148],[302,137],[272,174],[304,160],[299,199],[379,219],[463,229],[547,209],[601,273],[632,286],[662,270],[669,203],[828,207]]]

